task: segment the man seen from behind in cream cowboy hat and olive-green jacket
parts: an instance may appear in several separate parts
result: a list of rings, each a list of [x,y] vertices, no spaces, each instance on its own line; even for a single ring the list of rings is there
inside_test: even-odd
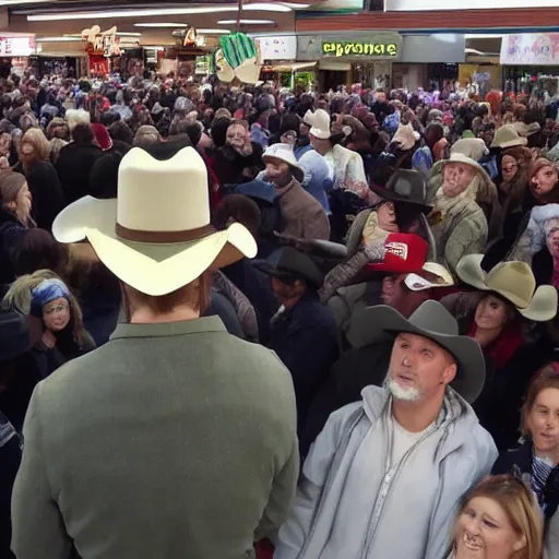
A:
[[[13,492],[21,559],[69,557],[72,543],[83,559],[241,559],[290,509],[289,371],[199,318],[209,273],[257,252],[242,225],[210,226],[206,177],[192,147],[166,160],[134,147],[118,199],[57,219],[59,240],[86,239],[121,281],[124,321],[33,394]]]

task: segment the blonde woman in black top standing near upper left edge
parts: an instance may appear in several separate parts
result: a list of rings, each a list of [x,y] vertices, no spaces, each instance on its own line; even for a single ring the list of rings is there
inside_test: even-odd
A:
[[[27,179],[34,200],[37,227],[50,230],[55,217],[66,207],[64,194],[55,167],[48,160],[50,145],[43,131],[31,128],[17,145],[21,170]]]

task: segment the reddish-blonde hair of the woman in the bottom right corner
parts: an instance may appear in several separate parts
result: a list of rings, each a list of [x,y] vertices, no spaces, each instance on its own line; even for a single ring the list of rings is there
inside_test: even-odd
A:
[[[477,497],[485,497],[498,503],[514,532],[524,539],[525,545],[514,555],[514,559],[542,559],[542,512],[532,491],[520,479],[508,474],[486,477],[466,495],[459,516]]]

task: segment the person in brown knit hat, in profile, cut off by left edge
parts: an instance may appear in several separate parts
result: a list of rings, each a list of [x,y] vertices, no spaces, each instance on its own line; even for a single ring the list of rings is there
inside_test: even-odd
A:
[[[12,170],[0,174],[0,288],[15,278],[17,245],[25,230],[35,227],[31,216],[32,202],[23,175]]]

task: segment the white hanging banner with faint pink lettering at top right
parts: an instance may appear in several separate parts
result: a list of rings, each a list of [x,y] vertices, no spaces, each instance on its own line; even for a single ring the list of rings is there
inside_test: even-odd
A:
[[[504,35],[501,64],[559,66],[559,33]]]

